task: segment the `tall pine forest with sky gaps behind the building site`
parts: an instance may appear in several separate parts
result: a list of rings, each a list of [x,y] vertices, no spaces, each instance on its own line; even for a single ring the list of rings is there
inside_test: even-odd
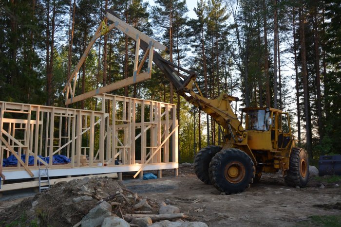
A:
[[[186,0],[2,0],[0,100],[65,106],[62,90],[107,9],[166,45],[164,58],[194,70],[205,96],[283,109],[310,157],[340,153],[338,0],[198,0],[191,18]],[[131,76],[134,45],[118,31],[102,36],[76,93]],[[181,162],[222,143],[218,125],[176,95],[157,67],[152,79],[112,93],[177,104]],[[99,109],[95,98],[68,107]]]

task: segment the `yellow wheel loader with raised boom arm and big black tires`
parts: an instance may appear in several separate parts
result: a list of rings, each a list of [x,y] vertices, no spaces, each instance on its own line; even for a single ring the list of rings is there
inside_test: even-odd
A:
[[[145,52],[151,46],[140,41]],[[207,146],[194,159],[195,174],[201,181],[230,194],[245,191],[260,180],[262,173],[282,171],[287,185],[306,186],[308,156],[296,147],[288,113],[270,107],[243,108],[238,118],[237,97],[223,93],[207,98],[196,83],[194,71],[165,60],[158,52],[153,52],[152,59],[176,93],[211,116],[224,132],[223,146]]]

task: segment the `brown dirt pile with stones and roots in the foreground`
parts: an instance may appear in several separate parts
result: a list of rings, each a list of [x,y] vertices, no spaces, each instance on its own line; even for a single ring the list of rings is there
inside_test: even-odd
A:
[[[51,189],[38,193],[0,214],[1,224],[25,220],[40,226],[73,226],[99,202],[107,201],[113,213],[123,217],[126,213],[157,213],[158,202],[142,198],[131,192],[118,180],[85,177],[59,182]]]

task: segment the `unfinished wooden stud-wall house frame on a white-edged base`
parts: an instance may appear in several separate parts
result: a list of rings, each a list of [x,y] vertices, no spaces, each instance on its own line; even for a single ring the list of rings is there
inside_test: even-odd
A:
[[[141,177],[146,170],[161,176],[162,169],[177,175],[175,105],[108,94],[96,98],[102,111],[0,102],[0,164],[10,155],[19,159],[16,166],[3,167],[6,180],[37,180],[38,160],[56,178],[113,173],[121,178],[123,172]],[[71,162],[54,164],[56,154]],[[33,165],[28,165],[29,156]],[[38,181],[4,184],[0,192],[35,186]]]

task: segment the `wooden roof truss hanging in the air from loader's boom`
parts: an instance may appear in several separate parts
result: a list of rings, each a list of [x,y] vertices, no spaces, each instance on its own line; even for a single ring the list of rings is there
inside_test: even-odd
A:
[[[106,13],[106,16],[104,17],[104,21],[106,22],[108,19],[113,21],[114,23],[111,24],[108,27],[104,27],[103,25],[105,23],[100,23],[98,26],[95,35],[91,39],[90,43],[88,44],[85,52],[83,53],[82,57],[80,58],[78,64],[76,65],[75,70],[71,74],[71,77],[67,81],[66,86],[63,89],[63,92],[66,91],[66,101],[65,105],[69,105],[72,103],[76,103],[81,100],[85,100],[91,97],[94,97],[99,94],[103,94],[112,90],[119,89],[121,87],[125,87],[128,85],[132,85],[138,82],[145,81],[147,79],[150,79],[152,76],[152,59],[153,59],[153,51],[154,48],[158,50],[166,50],[166,46],[162,45],[161,43],[157,42],[156,40],[152,39],[148,35],[143,34],[142,32],[138,31],[137,29],[133,28],[123,20],[115,17],[113,14],[110,12]],[[133,68],[133,76],[128,77],[126,79],[114,82],[112,84],[109,84],[104,87],[99,87],[95,90],[86,92],[84,94],[80,94],[75,97],[75,90],[76,90],[76,83],[77,83],[77,73],[80,70],[80,67],[83,65],[88,53],[90,52],[91,48],[93,47],[95,40],[98,39],[101,35],[104,35],[105,33],[109,32],[112,29],[118,29],[124,34],[128,35],[129,37],[133,38],[133,40],[136,41],[136,48],[135,48],[135,59],[134,59],[134,68]],[[148,49],[145,51],[143,58],[141,62],[138,62],[138,56],[139,56],[139,51],[140,51],[140,41],[144,41],[149,44]],[[148,69],[146,72],[140,72],[142,69],[142,66],[144,62],[146,61],[147,57],[149,56],[149,61],[148,61]],[[73,85],[71,82],[73,81]]]

